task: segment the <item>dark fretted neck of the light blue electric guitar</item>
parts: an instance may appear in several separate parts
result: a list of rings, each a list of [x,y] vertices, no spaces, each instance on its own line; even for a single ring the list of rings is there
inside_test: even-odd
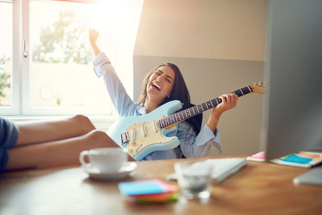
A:
[[[233,91],[232,93],[235,93],[238,97],[241,97],[245,94],[251,93],[252,91],[253,90],[252,90],[251,86],[246,86],[242,89],[238,89],[236,91]],[[204,102],[200,105],[190,107],[190,108],[180,111],[178,113],[172,114],[168,117],[160,119],[160,120],[158,120],[158,125],[160,128],[164,128],[166,126],[171,127],[170,125],[172,125],[172,124],[176,125],[178,122],[185,120],[189,117],[193,117],[194,115],[197,115],[197,114],[204,112],[208,109],[211,109],[213,107],[216,107],[217,105],[219,105],[222,102],[223,101],[220,98],[214,98],[214,99]]]

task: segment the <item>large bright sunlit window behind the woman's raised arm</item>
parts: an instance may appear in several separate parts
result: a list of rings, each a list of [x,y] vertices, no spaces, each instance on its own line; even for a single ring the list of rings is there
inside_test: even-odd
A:
[[[104,82],[93,72],[89,28],[100,32],[98,46],[132,96],[143,0],[100,2],[0,0],[0,18],[8,29],[0,34],[0,115],[111,115]],[[128,50],[118,51],[118,44],[128,44]]]

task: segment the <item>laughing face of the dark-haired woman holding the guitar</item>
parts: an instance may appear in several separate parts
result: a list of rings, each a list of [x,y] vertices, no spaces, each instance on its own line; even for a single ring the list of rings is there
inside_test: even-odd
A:
[[[168,66],[158,68],[147,82],[147,96],[160,103],[170,95],[175,82],[175,71]]]

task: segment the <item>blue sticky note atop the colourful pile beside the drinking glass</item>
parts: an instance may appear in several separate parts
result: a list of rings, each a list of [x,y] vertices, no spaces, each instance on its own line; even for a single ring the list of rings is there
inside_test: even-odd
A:
[[[165,192],[162,186],[153,181],[120,182],[118,189],[125,196]]]

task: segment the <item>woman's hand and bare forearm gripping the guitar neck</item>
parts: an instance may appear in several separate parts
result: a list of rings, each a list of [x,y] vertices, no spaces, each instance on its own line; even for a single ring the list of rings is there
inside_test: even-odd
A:
[[[211,113],[207,122],[207,125],[213,131],[213,133],[216,130],[219,118],[223,112],[236,107],[238,100],[238,96],[234,93],[223,94],[218,98],[222,100],[222,103],[213,108],[213,112]]]

